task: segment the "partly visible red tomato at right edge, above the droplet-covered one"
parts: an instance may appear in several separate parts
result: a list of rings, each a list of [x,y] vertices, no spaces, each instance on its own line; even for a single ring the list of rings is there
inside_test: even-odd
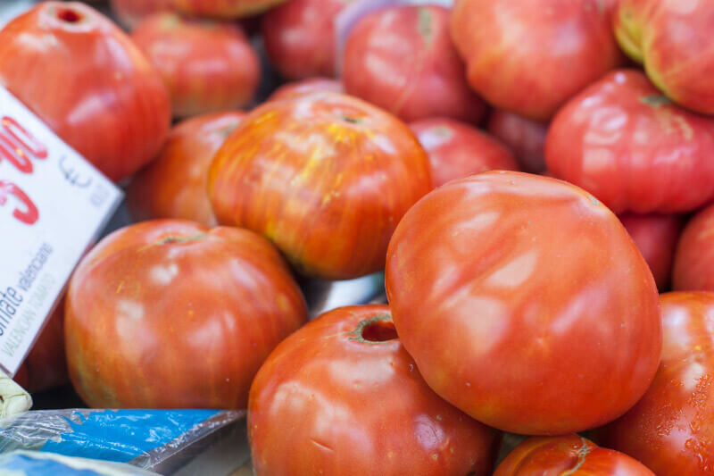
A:
[[[714,205],[694,215],[682,232],[672,284],[678,291],[714,291]]]

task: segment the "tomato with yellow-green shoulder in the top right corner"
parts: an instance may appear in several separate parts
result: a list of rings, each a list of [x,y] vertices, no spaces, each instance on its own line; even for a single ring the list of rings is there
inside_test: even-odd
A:
[[[647,76],[668,97],[714,114],[713,2],[620,0],[614,24],[620,46],[644,63]]]

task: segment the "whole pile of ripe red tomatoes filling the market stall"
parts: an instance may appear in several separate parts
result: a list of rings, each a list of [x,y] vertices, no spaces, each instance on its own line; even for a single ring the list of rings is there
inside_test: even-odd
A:
[[[136,220],[21,383],[247,408],[257,475],[714,474],[714,3],[112,9],[0,30]],[[308,322],[298,277],[382,270],[388,305]]]

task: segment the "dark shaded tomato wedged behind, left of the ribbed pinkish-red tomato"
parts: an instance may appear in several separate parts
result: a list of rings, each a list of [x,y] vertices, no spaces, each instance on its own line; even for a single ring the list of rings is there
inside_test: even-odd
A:
[[[513,151],[523,171],[545,171],[545,134],[548,124],[496,109],[488,120],[488,131]]]

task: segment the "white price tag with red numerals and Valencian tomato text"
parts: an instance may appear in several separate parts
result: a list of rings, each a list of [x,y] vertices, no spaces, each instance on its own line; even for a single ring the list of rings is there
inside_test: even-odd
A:
[[[14,375],[122,194],[0,88],[0,367]]]

